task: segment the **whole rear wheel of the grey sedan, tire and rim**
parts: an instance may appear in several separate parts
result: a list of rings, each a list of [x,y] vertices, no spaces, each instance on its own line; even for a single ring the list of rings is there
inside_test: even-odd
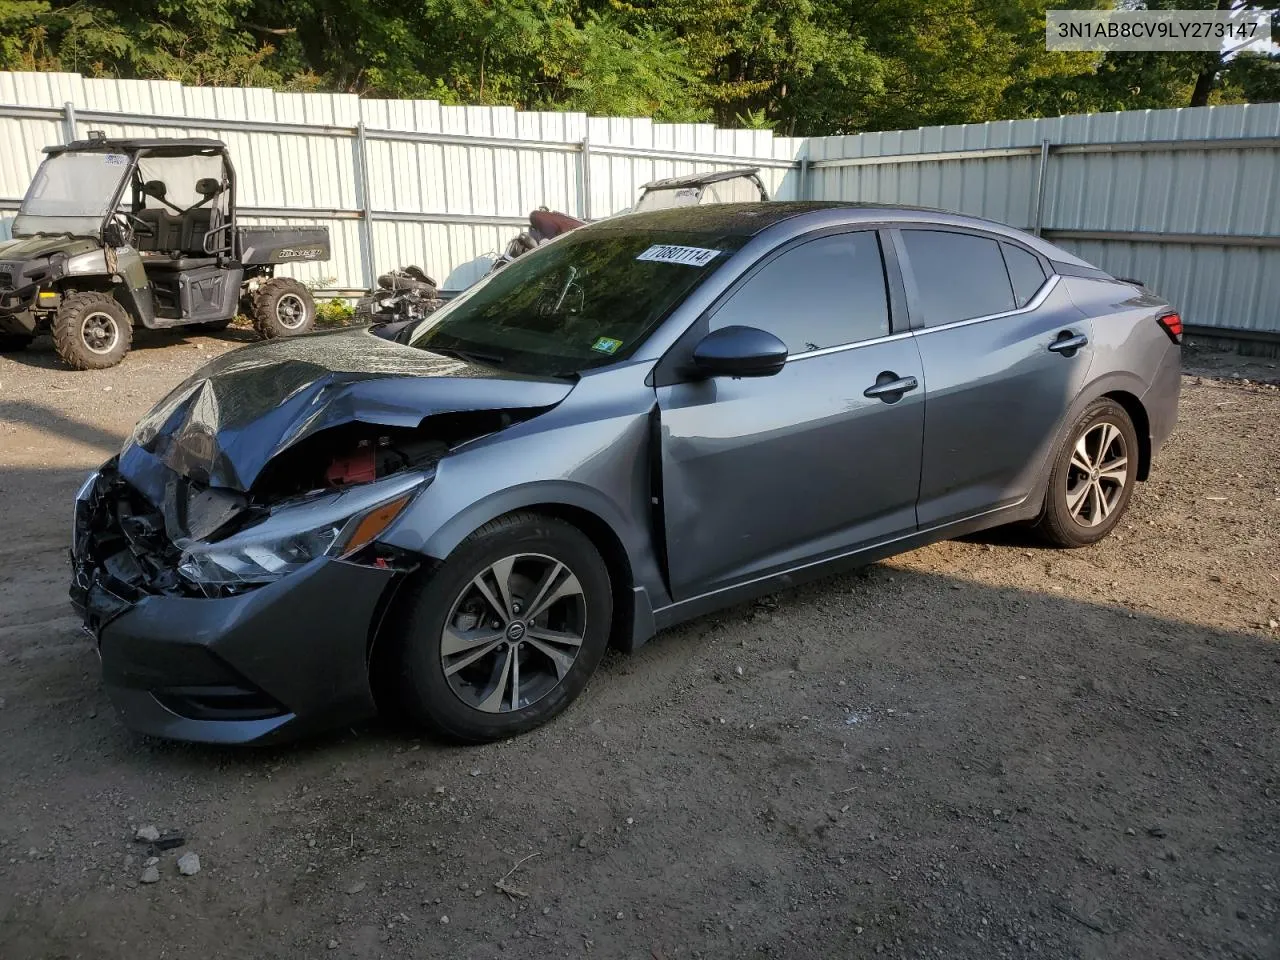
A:
[[[1041,536],[1074,548],[1110,534],[1129,508],[1138,456],[1138,433],[1124,407],[1106,398],[1091,403],[1057,452],[1037,522]]]

